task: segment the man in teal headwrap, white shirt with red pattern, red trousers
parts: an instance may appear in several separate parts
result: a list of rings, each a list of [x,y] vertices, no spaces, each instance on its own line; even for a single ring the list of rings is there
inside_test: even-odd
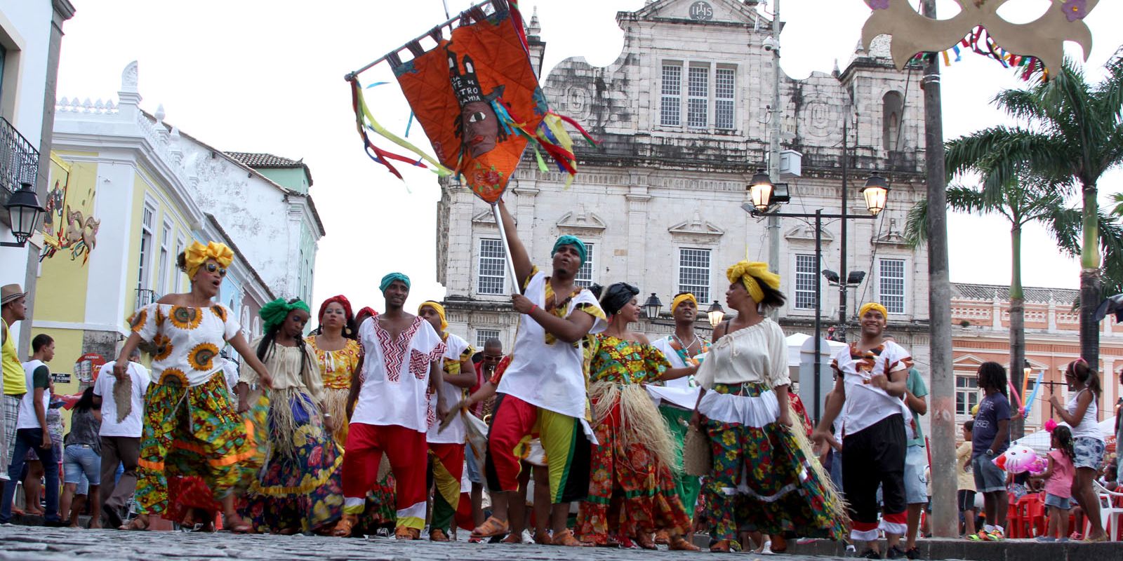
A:
[[[385,312],[363,322],[363,368],[347,397],[353,411],[344,452],[344,517],[332,534],[350,535],[363,513],[366,493],[378,479],[385,452],[394,479],[398,527],[394,537],[418,540],[426,521],[426,432],[437,419],[429,397],[441,398],[445,343],[429,322],[402,310],[410,277],[391,273],[378,286]],[[357,401],[357,403],[356,403]]]

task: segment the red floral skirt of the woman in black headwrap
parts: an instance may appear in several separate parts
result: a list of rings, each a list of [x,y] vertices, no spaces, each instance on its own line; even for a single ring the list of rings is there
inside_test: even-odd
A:
[[[647,404],[655,408],[650,399]],[[652,427],[622,424],[619,403],[594,427],[599,444],[592,447],[588,496],[577,512],[581,540],[603,545],[609,543],[610,534],[619,539],[658,530],[672,534],[690,532],[691,518],[676,491],[669,463],[674,458],[660,460],[642,445],[624,445],[624,430],[650,431]],[[654,430],[665,430],[665,426]]]

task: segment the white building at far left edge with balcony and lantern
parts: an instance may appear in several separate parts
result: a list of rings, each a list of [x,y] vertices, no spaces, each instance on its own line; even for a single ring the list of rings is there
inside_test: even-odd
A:
[[[43,240],[33,234],[16,243],[6,205],[25,184],[40,204],[46,199],[58,53],[63,22],[73,16],[69,0],[0,0],[0,285],[18,283],[30,293],[28,316]],[[21,358],[30,355],[26,323],[11,327]]]

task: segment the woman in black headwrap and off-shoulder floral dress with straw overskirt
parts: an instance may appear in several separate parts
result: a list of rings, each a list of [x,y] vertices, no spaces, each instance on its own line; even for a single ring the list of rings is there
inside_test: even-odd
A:
[[[588,396],[597,444],[577,533],[586,544],[615,541],[654,550],[651,535],[666,530],[672,550],[697,551],[683,537],[691,517],[675,490],[675,444],[642,387],[688,376],[695,368],[670,368],[647,337],[628,330],[639,319],[637,294],[627,283],[609,286],[601,297],[609,327],[590,338]]]

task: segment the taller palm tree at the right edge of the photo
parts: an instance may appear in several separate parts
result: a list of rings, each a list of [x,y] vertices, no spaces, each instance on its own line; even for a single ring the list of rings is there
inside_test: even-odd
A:
[[[1079,185],[1080,356],[1093,365],[1099,364],[1094,314],[1102,275],[1096,183],[1123,163],[1123,49],[1106,68],[1104,81],[1089,84],[1084,72],[1066,59],[1050,81],[995,96],[995,105],[1023,125],[992,127],[947,144],[948,175],[986,169],[983,187],[990,196],[1026,167],[1051,184]]]

